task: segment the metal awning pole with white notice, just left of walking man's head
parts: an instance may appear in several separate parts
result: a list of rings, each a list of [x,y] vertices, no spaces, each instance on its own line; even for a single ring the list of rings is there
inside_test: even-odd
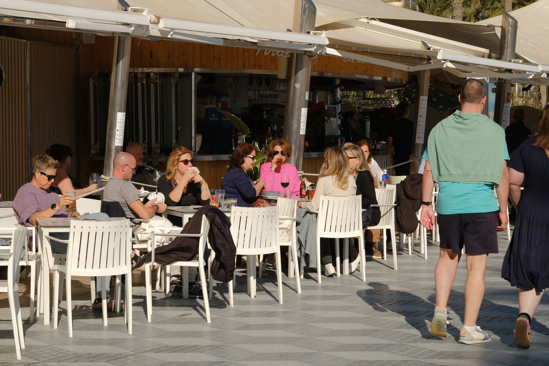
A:
[[[423,70],[418,77],[417,98],[416,98],[416,123],[414,123],[414,143],[412,155],[420,157],[423,155],[425,141],[425,119],[427,117],[427,97],[429,95],[429,77],[431,70]],[[424,108],[422,108],[424,106]],[[419,164],[410,163],[410,173],[417,172]]]

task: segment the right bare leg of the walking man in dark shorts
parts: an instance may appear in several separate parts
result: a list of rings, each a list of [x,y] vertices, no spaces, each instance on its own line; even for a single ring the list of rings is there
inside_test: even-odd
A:
[[[467,255],[467,280],[465,281],[465,317],[463,325],[475,326],[484,297],[484,276],[487,254]],[[463,330],[463,329],[462,329]]]

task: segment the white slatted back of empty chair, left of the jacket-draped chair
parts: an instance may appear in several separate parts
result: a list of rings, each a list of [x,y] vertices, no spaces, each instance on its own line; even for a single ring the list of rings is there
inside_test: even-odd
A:
[[[130,220],[71,220],[67,275],[110,276],[131,267]]]

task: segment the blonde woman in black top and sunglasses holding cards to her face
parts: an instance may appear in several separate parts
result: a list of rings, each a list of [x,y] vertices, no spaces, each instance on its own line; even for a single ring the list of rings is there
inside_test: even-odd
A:
[[[208,205],[210,189],[193,166],[193,151],[184,146],[175,148],[168,158],[166,175],[158,179],[158,192],[164,194],[168,206]],[[181,226],[182,218],[168,215],[175,226]]]

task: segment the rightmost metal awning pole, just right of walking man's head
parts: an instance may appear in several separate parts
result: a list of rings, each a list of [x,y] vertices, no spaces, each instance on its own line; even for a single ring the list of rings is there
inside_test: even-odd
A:
[[[503,12],[501,17],[501,40],[500,40],[500,60],[509,61],[515,58],[515,48],[517,46],[517,27],[518,21],[511,14]],[[511,82],[506,79],[499,79],[496,83],[496,104],[494,105],[494,122],[502,125],[503,109],[505,108],[507,93],[511,93]],[[509,102],[509,105],[511,103]],[[506,122],[509,123],[508,116]]]

